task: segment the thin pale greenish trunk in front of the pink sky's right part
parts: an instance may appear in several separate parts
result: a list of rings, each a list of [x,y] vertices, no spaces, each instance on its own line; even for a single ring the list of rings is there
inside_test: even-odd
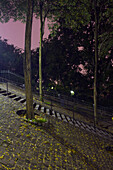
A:
[[[43,94],[42,94],[42,39],[43,39],[43,20],[42,20],[42,2],[40,2],[40,46],[39,46],[39,95],[40,101],[43,101]]]

